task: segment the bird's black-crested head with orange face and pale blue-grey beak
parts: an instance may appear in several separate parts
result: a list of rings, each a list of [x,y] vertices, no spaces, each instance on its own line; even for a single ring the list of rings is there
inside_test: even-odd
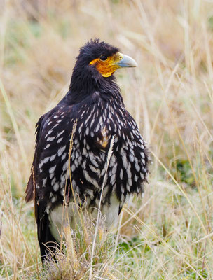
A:
[[[76,57],[71,87],[72,83],[91,83],[91,80],[104,83],[117,69],[136,66],[132,57],[123,55],[113,45],[100,42],[99,39],[91,40],[80,48]]]

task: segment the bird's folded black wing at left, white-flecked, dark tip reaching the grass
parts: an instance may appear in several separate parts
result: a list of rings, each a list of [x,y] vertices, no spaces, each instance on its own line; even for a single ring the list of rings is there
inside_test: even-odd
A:
[[[71,106],[59,105],[43,115],[36,124],[36,148],[25,200],[28,202],[34,198],[41,256],[46,255],[47,246],[56,243],[50,232],[47,207],[52,198],[51,190],[60,192],[64,160],[68,158],[74,123],[72,116]]]

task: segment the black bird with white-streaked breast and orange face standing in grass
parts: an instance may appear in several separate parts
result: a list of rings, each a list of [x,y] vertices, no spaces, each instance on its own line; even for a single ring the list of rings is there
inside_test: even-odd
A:
[[[130,195],[144,193],[149,150],[114,76],[117,69],[135,66],[118,48],[91,39],[79,49],[69,91],[36,123],[25,200],[34,201],[42,262],[60,244],[63,223],[71,228],[78,223],[74,203],[94,214],[101,200],[110,227]]]

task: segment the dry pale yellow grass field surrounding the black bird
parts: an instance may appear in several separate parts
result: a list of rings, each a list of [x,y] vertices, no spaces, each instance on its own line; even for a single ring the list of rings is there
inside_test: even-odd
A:
[[[42,269],[24,190],[36,120],[95,37],[139,64],[116,76],[153,164],[144,199],[99,230],[91,279],[213,279],[211,2],[0,1],[0,279],[89,279],[95,226],[68,231],[66,255]]]

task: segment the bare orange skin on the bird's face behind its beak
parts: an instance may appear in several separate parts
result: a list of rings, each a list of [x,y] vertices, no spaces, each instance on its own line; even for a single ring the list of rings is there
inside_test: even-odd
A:
[[[123,55],[120,52],[117,52],[115,55],[107,57],[107,60],[102,61],[100,58],[96,58],[92,60],[90,64],[95,64],[96,69],[103,77],[109,77],[114,71],[116,71],[116,69],[120,68],[116,63],[120,62],[122,58]]]

